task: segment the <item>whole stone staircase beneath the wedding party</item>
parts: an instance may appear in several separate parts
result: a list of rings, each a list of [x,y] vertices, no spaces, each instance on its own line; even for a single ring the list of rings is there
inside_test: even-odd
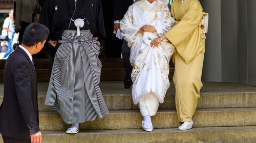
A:
[[[174,84],[152,117],[153,132],[141,128],[142,116],[122,81],[102,81],[108,116],[80,124],[80,132],[66,134],[65,124],[51,106],[44,105],[48,82],[38,83],[39,126],[43,142],[256,142],[256,87],[204,82],[193,129],[179,131]],[[3,100],[0,83],[0,101]],[[0,139],[0,142],[3,142]]]

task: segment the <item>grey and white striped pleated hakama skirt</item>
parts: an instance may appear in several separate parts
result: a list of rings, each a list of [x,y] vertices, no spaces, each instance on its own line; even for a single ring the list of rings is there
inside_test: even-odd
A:
[[[99,88],[100,43],[90,30],[65,30],[55,54],[46,95],[46,105],[60,113],[65,123],[83,123],[108,115],[109,110]]]

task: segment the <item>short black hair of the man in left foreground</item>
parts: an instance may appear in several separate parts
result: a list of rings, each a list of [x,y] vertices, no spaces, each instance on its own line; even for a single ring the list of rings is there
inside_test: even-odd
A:
[[[23,34],[22,43],[26,46],[34,46],[44,42],[49,35],[49,29],[40,23],[29,24]]]

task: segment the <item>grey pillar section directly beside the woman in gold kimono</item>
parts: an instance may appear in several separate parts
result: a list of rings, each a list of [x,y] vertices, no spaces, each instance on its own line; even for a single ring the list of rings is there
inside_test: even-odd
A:
[[[222,81],[221,66],[221,0],[200,1],[203,11],[209,14],[209,28],[205,40],[205,56],[202,79]]]

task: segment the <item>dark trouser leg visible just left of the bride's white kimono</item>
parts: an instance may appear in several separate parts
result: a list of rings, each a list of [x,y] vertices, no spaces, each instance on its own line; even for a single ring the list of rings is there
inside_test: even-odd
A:
[[[123,40],[122,45],[122,56],[123,56],[123,67],[125,69],[125,79],[131,79],[131,74],[133,70],[133,66],[130,63],[130,48],[127,45],[127,42]]]

